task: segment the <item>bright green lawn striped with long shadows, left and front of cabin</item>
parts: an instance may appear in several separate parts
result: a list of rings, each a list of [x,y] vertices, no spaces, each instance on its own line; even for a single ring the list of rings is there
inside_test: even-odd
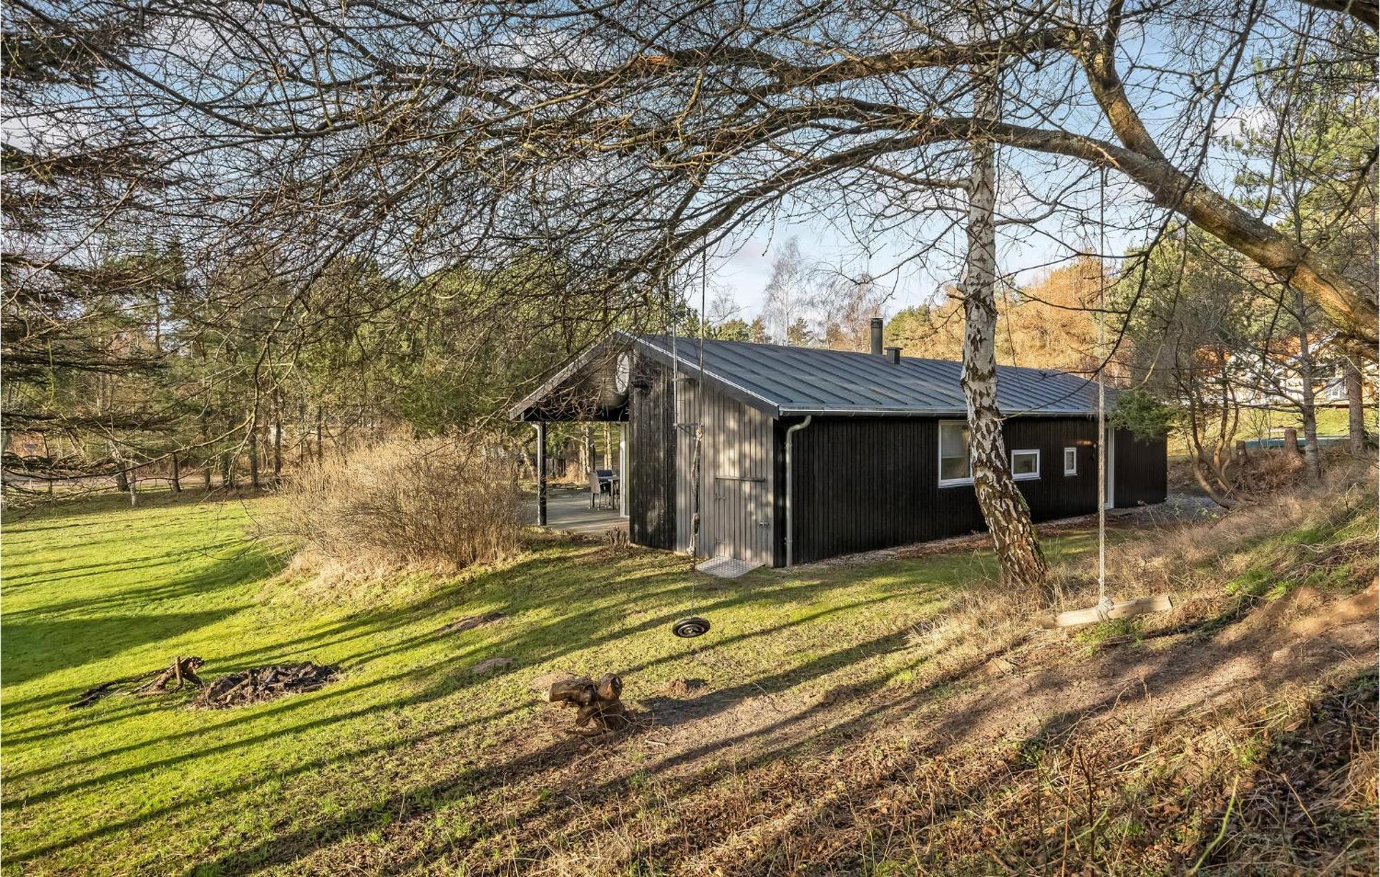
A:
[[[552,709],[534,676],[613,670],[633,699],[676,678],[760,692],[886,685],[925,661],[897,637],[991,564],[956,554],[720,583],[667,553],[545,539],[453,579],[337,592],[282,575],[284,557],[246,539],[272,499],[120,503],[6,525],[4,865],[15,873],[291,865],[368,838],[399,801],[426,816],[433,848],[475,843],[495,830],[476,803],[501,782],[477,765]],[[1050,546],[1087,549],[1076,536]],[[439,632],[483,611],[509,618]],[[691,611],[713,630],[672,637],[669,622]],[[175,655],[200,655],[211,677],[305,659],[344,676],[222,712],[126,695],[68,709],[87,687]],[[469,672],[490,656],[516,665]]]

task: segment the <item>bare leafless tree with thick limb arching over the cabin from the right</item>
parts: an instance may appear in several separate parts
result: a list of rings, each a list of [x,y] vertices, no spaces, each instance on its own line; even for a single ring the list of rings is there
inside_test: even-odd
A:
[[[36,149],[59,131],[99,132],[166,178],[156,204],[103,199],[66,237],[146,229],[156,214],[196,241],[197,265],[250,241],[272,254],[283,288],[275,332],[312,325],[309,291],[346,258],[426,296],[437,269],[495,272],[556,252],[566,284],[546,301],[574,336],[667,312],[658,291],[678,269],[777,216],[914,241],[897,270],[941,259],[966,219],[966,383],[974,429],[989,437],[996,237],[981,226],[1067,232],[1086,208],[1076,196],[1105,170],[1141,199],[1138,214],[1122,210],[1126,225],[1181,216],[1374,356],[1373,279],[1276,228],[1217,161],[1223,125],[1261,76],[1294,66],[1373,81],[1369,6],[443,0],[420,12],[397,0],[94,0],[59,12],[14,0],[7,15],[103,68],[23,108]],[[1329,37],[1300,52],[1318,19]],[[98,39],[105,21],[138,23],[120,51]],[[984,112],[973,76],[991,65],[1003,72],[1000,114]],[[959,197],[974,150],[995,149],[991,199]],[[1362,186],[1373,145],[1337,167]],[[974,228],[977,211],[992,222]],[[974,269],[972,256],[985,262]],[[511,273],[504,283],[520,285]],[[502,296],[469,305],[458,331],[512,324]],[[992,450],[981,456],[999,481]]]

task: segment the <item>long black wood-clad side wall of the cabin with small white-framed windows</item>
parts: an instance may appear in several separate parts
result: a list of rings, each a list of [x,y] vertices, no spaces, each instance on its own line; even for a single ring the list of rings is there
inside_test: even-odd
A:
[[[791,422],[777,430],[782,478]],[[1094,421],[1017,418],[1003,432],[1007,451],[1041,452],[1041,477],[1017,481],[1036,521],[1097,510]],[[1064,474],[1065,447],[1078,450],[1075,476]],[[938,487],[937,418],[816,418],[793,455],[795,563],[985,530],[972,485]]]

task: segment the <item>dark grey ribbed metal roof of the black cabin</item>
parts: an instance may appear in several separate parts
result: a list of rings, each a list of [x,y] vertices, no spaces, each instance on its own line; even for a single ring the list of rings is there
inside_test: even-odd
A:
[[[633,346],[678,371],[698,376],[700,341],[617,331],[599,346]],[[793,415],[966,415],[962,365],[949,360],[887,357],[850,350],[788,347],[741,341],[704,342],[704,379],[771,416]],[[566,374],[560,372],[562,375]],[[548,382],[512,410],[519,419],[552,389]],[[1093,415],[1097,383],[1061,371],[999,365],[998,407],[1016,415]],[[1108,404],[1115,392],[1108,389]]]

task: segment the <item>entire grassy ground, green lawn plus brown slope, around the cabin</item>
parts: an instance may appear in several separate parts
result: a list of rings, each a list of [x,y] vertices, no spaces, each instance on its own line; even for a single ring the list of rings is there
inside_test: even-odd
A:
[[[1355,785],[1374,775],[1374,740],[1352,732],[1373,725],[1373,674],[1359,688],[1344,678],[1319,702],[1341,705],[1330,724],[1300,728],[1296,714],[1314,707],[1275,681],[1267,692],[1278,703],[1248,703],[1242,685],[1236,712],[1194,706],[1203,677],[1238,655],[1232,641],[1263,637],[1241,645],[1248,661],[1278,644],[1243,612],[1304,585],[1328,597],[1373,579],[1373,505],[1245,528],[1235,547],[1192,556],[1201,572],[1172,564],[1174,582],[1145,565],[1138,587],[1198,596],[1167,618],[1041,634],[984,666],[1006,629],[1025,629],[1020,618],[962,627],[973,622],[966,585],[991,574],[984,552],[759,571],[730,583],[694,576],[691,594],[683,558],[542,541],[468,576],[342,594],[286,581],[280,557],[243,539],[272,502],[153,499],[128,510],[112,498],[7,523],[7,870],[370,873],[440,859],[482,871],[607,873],[718,859],[747,874],[824,856],[862,873],[887,863],[900,873],[991,873],[1002,856],[1006,867],[1038,870],[1072,849],[1075,860],[1138,874],[1265,854],[1315,862],[1314,847],[1351,848],[1358,873],[1374,860],[1374,785]],[[1112,535],[1133,552],[1165,538]],[[1198,542],[1223,538],[1213,525]],[[1056,564],[1090,547],[1086,532],[1045,545]],[[482,611],[511,618],[439,633]],[[713,630],[693,643],[671,637],[667,625],[690,611]],[[1192,630],[1150,638],[1180,622]],[[955,651],[960,627],[972,633],[966,651]],[[297,659],[339,663],[345,676],[315,694],[225,712],[123,695],[65,709],[91,684],[188,654],[211,676]],[[1310,654],[1267,658],[1252,677],[1294,669],[1312,685],[1337,659]],[[516,665],[491,678],[469,673],[497,655]],[[1194,663],[1201,672],[1185,685],[1154,681]],[[978,669],[951,672],[959,666]],[[564,736],[569,713],[529,689],[558,669],[622,673],[627,695],[662,724],[610,745]],[[1132,695],[1147,674],[1156,700],[1137,713]],[[702,700],[658,698],[665,683],[696,677],[709,683]],[[1119,706],[1085,713],[1089,696],[1114,688]],[[1156,718],[1176,698],[1187,713]],[[1039,713],[1034,736],[967,742],[967,716],[1013,706]],[[1076,734],[1060,724],[1070,717],[1061,710]],[[916,742],[945,727],[958,734],[951,747]],[[1281,728],[1300,728],[1303,756]],[[736,749],[738,738],[763,747]],[[1096,794],[1079,785],[1086,753],[1105,756],[1094,761]],[[1318,753],[1336,764],[1321,769]],[[1293,786],[1278,780],[1286,774]],[[1308,809],[1281,809],[1296,800]],[[1064,834],[1052,836],[1052,825]]]

